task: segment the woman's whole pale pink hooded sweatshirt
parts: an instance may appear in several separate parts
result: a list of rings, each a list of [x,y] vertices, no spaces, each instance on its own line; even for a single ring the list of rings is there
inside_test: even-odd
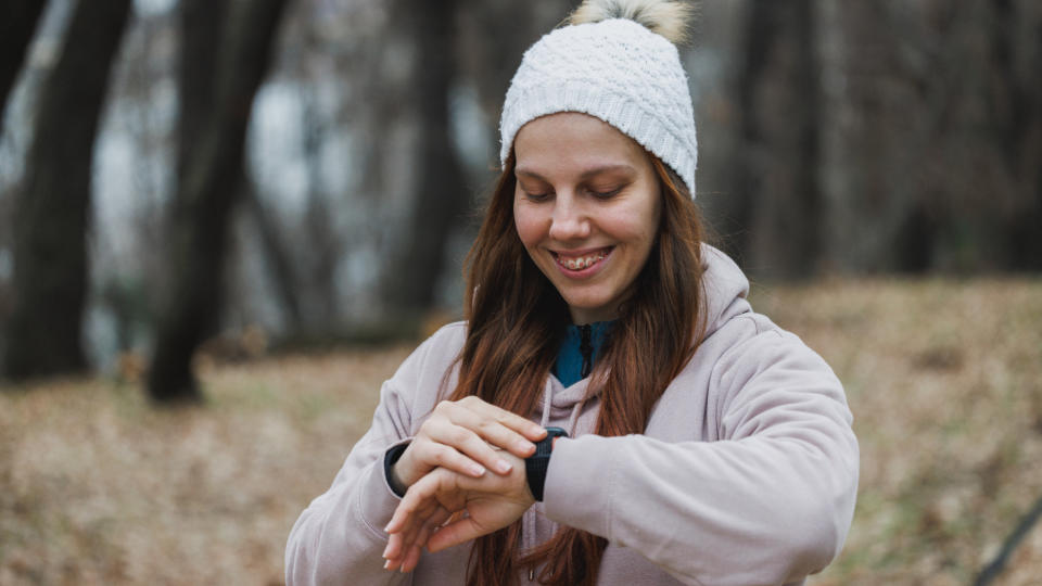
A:
[[[560,525],[606,537],[600,585],[801,584],[839,552],[857,488],[857,441],[842,386],[799,337],[752,311],[749,282],[703,246],[706,337],[641,435],[590,431],[586,380],[554,377],[536,413],[571,440],[554,448],[545,499],[523,517],[525,547]],[[410,574],[383,570],[398,498],[383,455],[443,397],[462,322],[421,344],[383,384],[372,426],[326,494],[301,514],[285,550],[288,585],[462,585],[470,545],[424,553]],[[456,372],[448,388],[456,384]],[[547,408],[546,404],[549,405]],[[529,575],[520,576],[529,584]]]

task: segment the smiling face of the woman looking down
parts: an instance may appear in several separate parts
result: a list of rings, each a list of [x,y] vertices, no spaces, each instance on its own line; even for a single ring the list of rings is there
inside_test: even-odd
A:
[[[648,259],[661,214],[647,152],[573,112],[536,118],[513,143],[518,235],[576,324],[618,317]]]

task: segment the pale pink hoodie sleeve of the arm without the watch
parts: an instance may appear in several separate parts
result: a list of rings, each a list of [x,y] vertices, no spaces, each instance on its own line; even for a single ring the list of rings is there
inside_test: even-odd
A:
[[[372,426],[355,444],[332,486],[304,510],[285,546],[285,583],[405,584],[408,574],[387,572],[381,557],[387,544],[383,527],[401,500],[383,473],[386,450],[406,441],[412,430],[421,388],[441,378],[427,364],[435,336],[424,342],[383,383]],[[444,368],[439,374],[444,373]]]

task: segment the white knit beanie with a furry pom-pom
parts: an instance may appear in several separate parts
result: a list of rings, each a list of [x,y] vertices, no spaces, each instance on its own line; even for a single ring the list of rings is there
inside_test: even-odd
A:
[[[694,198],[698,143],[687,76],[673,42],[651,30],[674,37],[687,14],[689,7],[665,0],[587,0],[571,16],[581,24],[525,51],[503,105],[500,165],[529,122],[582,112],[658,156]]]

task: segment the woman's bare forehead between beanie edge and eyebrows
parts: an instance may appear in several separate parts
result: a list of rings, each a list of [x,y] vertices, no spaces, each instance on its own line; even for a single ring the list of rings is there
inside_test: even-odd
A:
[[[560,112],[528,123],[518,131],[513,150],[521,170],[648,165],[647,153],[633,139],[600,118],[577,112]]]

